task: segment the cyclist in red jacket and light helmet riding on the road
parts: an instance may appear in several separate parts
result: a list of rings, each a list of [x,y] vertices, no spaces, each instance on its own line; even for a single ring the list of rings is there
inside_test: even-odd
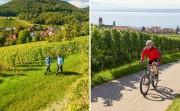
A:
[[[148,57],[148,63],[152,65],[151,69],[155,73],[155,78],[158,78],[157,65],[161,63],[161,54],[158,51],[158,49],[155,46],[153,46],[152,40],[148,40],[146,42],[146,47],[143,49],[141,53],[141,60],[140,60],[141,64],[144,61],[144,56]]]

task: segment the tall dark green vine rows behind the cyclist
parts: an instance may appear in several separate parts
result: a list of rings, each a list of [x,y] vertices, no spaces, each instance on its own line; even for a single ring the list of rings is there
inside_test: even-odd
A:
[[[142,32],[92,27],[92,73],[132,63],[140,59],[147,40],[151,39],[162,55],[180,51],[180,40]]]

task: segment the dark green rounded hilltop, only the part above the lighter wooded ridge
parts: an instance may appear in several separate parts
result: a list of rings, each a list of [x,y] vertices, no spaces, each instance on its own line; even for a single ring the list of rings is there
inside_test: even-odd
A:
[[[12,0],[0,5],[1,16],[17,16],[20,13],[42,13],[58,11],[78,11],[79,9],[68,2],[59,0]]]

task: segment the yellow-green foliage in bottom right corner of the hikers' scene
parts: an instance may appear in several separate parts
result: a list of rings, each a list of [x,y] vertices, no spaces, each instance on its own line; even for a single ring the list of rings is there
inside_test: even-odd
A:
[[[67,101],[63,111],[89,111],[89,81],[88,76],[76,81],[67,92]]]

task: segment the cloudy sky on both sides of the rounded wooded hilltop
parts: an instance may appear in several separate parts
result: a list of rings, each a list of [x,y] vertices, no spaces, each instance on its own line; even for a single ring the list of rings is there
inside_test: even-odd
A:
[[[7,3],[9,1],[11,1],[11,0],[0,0],[0,5],[4,4],[4,3]],[[67,1],[70,4],[73,4],[73,5],[75,5],[76,7],[79,7],[79,8],[84,8],[84,7],[89,6],[89,0],[63,0],[63,1]]]

